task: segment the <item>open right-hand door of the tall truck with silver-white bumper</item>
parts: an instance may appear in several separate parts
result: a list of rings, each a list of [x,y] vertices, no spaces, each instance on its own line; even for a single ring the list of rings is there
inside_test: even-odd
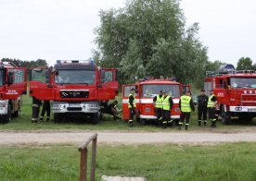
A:
[[[106,100],[115,99],[115,96],[118,96],[119,83],[118,75],[116,68],[103,68],[105,72],[104,83],[102,85],[103,92],[105,94]]]

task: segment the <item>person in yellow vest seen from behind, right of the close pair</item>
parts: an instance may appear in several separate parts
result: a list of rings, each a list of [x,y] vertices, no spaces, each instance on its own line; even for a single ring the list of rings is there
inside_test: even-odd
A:
[[[195,106],[193,103],[193,100],[191,98],[191,91],[187,90],[186,95],[181,96],[180,102],[179,102],[179,107],[181,110],[181,115],[180,115],[180,122],[179,122],[179,129],[181,130],[184,120],[186,119],[186,124],[185,124],[185,129],[188,129],[189,126],[189,118],[190,118],[190,113],[191,111],[195,111]]]

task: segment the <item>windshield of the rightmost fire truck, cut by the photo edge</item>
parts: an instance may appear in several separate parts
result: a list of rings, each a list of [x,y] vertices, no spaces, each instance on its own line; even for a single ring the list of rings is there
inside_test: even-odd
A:
[[[230,78],[232,89],[255,89],[256,78]]]

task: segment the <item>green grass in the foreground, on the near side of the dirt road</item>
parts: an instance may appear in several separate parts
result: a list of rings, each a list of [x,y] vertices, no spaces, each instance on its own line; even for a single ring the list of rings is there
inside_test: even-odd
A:
[[[147,180],[255,180],[256,144],[215,146],[140,145],[97,147],[101,175],[145,176]],[[77,180],[76,146],[1,148],[1,180]]]

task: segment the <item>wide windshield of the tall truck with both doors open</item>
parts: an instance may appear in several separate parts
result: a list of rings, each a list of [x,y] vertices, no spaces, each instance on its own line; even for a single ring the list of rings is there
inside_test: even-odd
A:
[[[58,84],[92,85],[96,80],[95,70],[58,70],[55,82]]]

